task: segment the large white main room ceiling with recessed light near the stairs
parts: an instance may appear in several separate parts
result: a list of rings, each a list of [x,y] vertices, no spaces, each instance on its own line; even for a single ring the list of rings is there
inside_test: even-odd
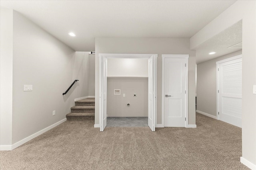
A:
[[[190,38],[234,2],[0,0],[0,5],[20,12],[76,51],[95,51],[95,37]]]

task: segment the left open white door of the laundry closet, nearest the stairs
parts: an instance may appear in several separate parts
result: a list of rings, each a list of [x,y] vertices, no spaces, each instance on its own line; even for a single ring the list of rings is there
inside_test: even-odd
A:
[[[104,131],[107,125],[107,58],[103,57],[102,59],[102,128],[100,131]]]

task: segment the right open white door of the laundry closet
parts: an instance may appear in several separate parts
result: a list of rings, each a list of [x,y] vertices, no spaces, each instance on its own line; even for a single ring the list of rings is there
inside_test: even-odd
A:
[[[155,91],[155,83],[154,83],[154,68],[155,57],[151,56],[148,59],[148,126],[152,131],[155,131],[155,98],[154,98],[154,91]]]

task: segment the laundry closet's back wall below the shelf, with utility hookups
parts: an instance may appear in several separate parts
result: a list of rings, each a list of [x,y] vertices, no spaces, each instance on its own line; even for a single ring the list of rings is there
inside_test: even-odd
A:
[[[114,95],[114,89],[120,89],[121,94]],[[108,117],[148,117],[148,78],[108,78],[107,100]]]

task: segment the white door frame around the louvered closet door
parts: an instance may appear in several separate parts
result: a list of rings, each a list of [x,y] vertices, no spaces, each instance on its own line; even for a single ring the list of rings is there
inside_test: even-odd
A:
[[[228,61],[232,61],[232,60],[236,60],[236,59],[240,59],[242,58],[242,54],[240,55],[236,55],[234,57],[230,57],[228,59],[224,59],[224,60],[220,60],[220,61],[217,61],[216,62],[216,115],[217,115],[217,119],[220,120],[220,115],[219,115],[219,112],[220,112],[220,108],[219,108],[219,93],[218,93],[218,90],[220,89],[219,87],[219,64],[221,63],[225,63],[225,62],[228,62]]]

